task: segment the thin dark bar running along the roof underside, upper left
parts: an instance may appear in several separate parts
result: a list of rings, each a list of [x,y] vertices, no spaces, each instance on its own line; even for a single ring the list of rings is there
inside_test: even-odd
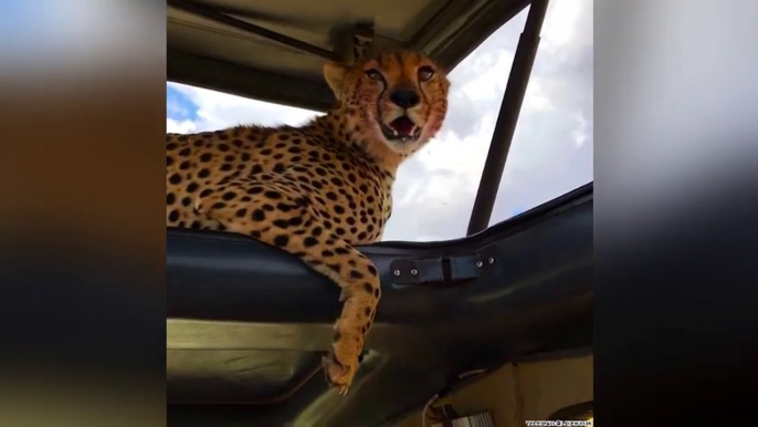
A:
[[[293,49],[297,49],[302,52],[307,52],[329,61],[336,60],[336,55],[331,51],[315,46],[313,44],[308,44],[306,42],[293,39],[284,34],[280,34],[275,31],[266,30],[263,27],[254,25],[250,22],[232,18],[228,14],[217,12],[215,10],[208,8],[206,6],[196,4],[185,0],[168,0],[168,4],[172,8],[181,9],[186,12],[197,14],[206,19],[210,19],[211,21],[220,22],[225,25],[233,27],[238,30],[242,30],[249,33],[266,38],[269,40],[273,40],[277,43],[282,43]]]

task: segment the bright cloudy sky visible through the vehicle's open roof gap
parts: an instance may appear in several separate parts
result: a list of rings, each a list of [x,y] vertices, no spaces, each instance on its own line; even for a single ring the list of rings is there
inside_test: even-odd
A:
[[[404,163],[385,240],[465,236],[507,75],[528,10],[450,73],[435,139]],[[491,225],[592,180],[592,0],[550,2]],[[169,132],[306,122],[316,113],[168,83]]]

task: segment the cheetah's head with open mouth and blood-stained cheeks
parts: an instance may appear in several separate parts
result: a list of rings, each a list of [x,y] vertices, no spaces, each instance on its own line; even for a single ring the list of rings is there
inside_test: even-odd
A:
[[[388,51],[352,67],[329,64],[325,75],[348,126],[368,142],[410,154],[442,126],[450,82],[423,54]]]

